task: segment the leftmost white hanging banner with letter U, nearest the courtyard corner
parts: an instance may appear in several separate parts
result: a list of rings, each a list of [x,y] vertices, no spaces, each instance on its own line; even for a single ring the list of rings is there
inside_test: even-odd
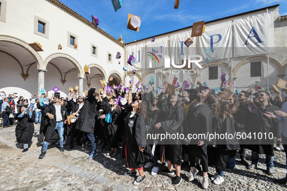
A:
[[[136,59],[136,62],[133,66],[128,64],[128,71],[132,70],[140,70],[141,69],[141,48],[145,47],[145,43],[139,43],[137,45],[128,45],[128,56],[127,60],[129,59],[130,55],[134,56]],[[126,64],[126,63],[125,63]]]

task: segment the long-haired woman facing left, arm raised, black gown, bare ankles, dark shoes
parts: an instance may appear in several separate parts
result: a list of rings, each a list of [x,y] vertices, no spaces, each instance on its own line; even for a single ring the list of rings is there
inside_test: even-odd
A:
[[[185,122],[184,104],[185,99],[183,96],[174,95],[170,100],[163,100],[164,92],[168,87],[168,83],[163,85],[164,89],[158,97],[156,104],[157,108],[165,112],[166,119],[160,123],[157,123],[154,128],[162,128],[167,134],[183,134],[182,124]],[[165,159],[168,161],[168,169],[161,170],[163,174],[174,175],[172,170],[172,164],[176,171],[176,176],[173,180],[173,185],[179,185],[182,181],[180,176],[181,163],[182,163],[182,145],[180,139],[170,139],[169,142],[165,142]]]

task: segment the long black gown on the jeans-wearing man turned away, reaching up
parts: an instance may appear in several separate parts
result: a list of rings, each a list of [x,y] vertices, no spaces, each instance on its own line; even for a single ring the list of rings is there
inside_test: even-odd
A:
[[[81,108],[80,115],[78,117],[78,122],[76,128],[87,132],[94,133],[96,115],[98,111],[96,108],[96,97],[94,96],[95,88],[91,88],[88,91],[88,97],[84,101],[84,106]]]

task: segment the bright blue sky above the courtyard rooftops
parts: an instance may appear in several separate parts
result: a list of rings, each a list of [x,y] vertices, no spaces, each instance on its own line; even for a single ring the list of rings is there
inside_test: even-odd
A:
[[[175,0],[122,0],[117,12],[111,0],[60,1],[89,21],[97,16],[99,27],[116,39],[121,35],[124,43],[275,4],[281,16],[287,15],[287,0],[180,0],[175,10]],[[139,32],[127,29],[129,13],[141,17]]]

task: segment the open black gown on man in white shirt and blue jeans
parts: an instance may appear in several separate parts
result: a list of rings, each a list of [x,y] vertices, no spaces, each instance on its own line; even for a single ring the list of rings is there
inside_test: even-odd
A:
[[[44,110],[44,115],[46,116],[47,113],[51,113],[52,115],[54,115],[54,118],[53,119],[50,119],[48,116],[48,127],[47,127],[47,131],[46,131],[46,134],[45,134],[45,142],[49,142],[50,140],[56,140],[58,139],[58,131],[55,130],[55,127],[57,125],[56,123],[56,109],[55,109],[55,106],[54,105],[49,105],[48,108],[46,108]],[[65,120],[67,120],[67,116],[68,116],[68,113],[67,113],[67,109],[65,106],[61,106],[61,115],[62,115],[62,120],[63,120],[63,123],[65,122]],[[64,126],[63,126],[64,127]]]

